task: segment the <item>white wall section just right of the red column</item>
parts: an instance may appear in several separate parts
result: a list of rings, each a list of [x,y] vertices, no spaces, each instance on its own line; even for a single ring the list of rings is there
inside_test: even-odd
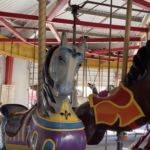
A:
[[[29,61],[14,59],[12,85],[15,85],[14,103],[27,106],[29,88]]]

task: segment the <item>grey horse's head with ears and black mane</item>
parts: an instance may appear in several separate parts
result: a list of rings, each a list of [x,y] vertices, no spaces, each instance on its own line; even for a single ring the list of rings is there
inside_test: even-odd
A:
[[[69,44],[63,32],[60,46],[52,47],[48,51],[43,68],[43,90],[40,102],[45,110],[54,113],[52,105],[57,103],[58,99],[66,99],[71,94],[74,76],[84,59],[85,46],[85,39],[78,47]]]

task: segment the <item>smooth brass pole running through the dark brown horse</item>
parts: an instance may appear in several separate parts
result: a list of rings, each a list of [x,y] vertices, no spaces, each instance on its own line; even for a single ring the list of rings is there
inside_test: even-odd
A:
[[[131,16],[132,16],[132,0],[128,0],[128,2],[127,2],[127,13],[126,13],[125,38],[124,38],[122,78],[121,78],[122,82],[124,82],[126,74],[127,74]],[[123,137],[123,135],[124,135],[123,132],[118,133],[117,150],[122,150],[122,147],[123,147],[122,137]]]

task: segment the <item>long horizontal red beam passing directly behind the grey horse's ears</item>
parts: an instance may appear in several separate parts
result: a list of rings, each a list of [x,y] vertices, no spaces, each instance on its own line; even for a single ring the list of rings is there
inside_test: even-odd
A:
[[[24,43],[23,41],[21,41],[20,39],[5,39],[2,38],[0,39],[1,42],[3,43]],[[69,43],[72,43],[72,39],[68,39]],[[76,43],[80,43],[82,41],[82,38],[80,39],[76,39]],[[139,42],[140,38],[139,37],[133,37],[130,38],[130,42]],[[108,43],[109,42],[109,38],[91,38],[91,39],[86,39],[86,43]],[[124,42],[124,38],[111,38],[111,42]],[[27,39],[26,43],[38,43],[38,39]],[[56,39],[46,39],[46,43],[51,43],[51,44],[59,44],[60,42],[58,42]],[[102,53],[106,52],[108,53],[106,50],[100,50],[102,51]],[[119,50],[120,51],[120,50]]]

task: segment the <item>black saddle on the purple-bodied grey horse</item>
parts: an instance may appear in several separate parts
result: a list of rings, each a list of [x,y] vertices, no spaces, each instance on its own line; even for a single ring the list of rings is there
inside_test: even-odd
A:
[[[19,104],[6,104],[1,108],[1,113],[7,118],[5,132],[8,136],[15,136],[22,126],[24,117],[29,113],[27,107]]]

